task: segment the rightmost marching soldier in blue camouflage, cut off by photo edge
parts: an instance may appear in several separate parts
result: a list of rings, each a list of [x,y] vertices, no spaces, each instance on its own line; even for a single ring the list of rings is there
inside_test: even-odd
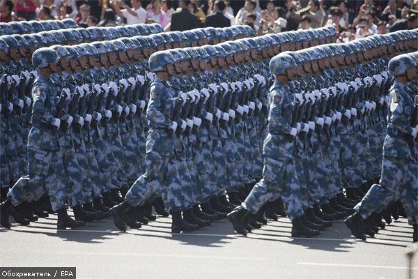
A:
[[[417,63],[412,56],[403,54],[389,61],[389,75],[395,78],[390,92],[387,136],[383,145],[382,176],[380,184],[373,185],[362,201],[355,206],[355,213],[345,223],[351,233],[366,239],[364,230],[372,223],[373,213],[380,213],[400,194],[408,223],[414,227],[417,239],[417,158],[412,151],[417,128],[412,127],[414,94],[408,82],[417,79]]]

